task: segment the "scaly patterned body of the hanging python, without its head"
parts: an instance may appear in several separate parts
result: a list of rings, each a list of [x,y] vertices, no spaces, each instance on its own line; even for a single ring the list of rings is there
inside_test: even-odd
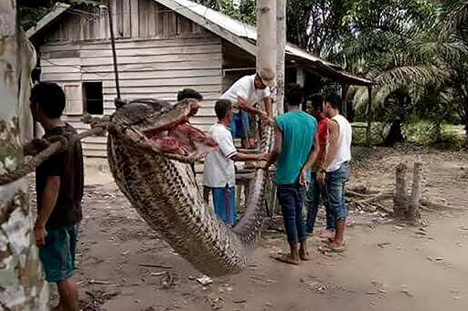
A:
[[[190,264],[210,276],[239,273],[260,239],[266,170],[255,172],[246,213],[229,229],[204,202],[189,164],[143,149],[122,131],[108,135],[112,175],[133,208]],[[261,129],[269,151],[273,130]]]

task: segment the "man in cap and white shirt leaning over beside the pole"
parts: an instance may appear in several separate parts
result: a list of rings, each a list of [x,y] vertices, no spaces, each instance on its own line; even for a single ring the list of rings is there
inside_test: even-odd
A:
[[[274,87],[274,72],[271,69],[260,69],[255,75],[239,78],[222,96],[232,103],[234,117],[229,124],[233,138],[239,138],[242,147],[248,147],[250,126],[249,113],[259,115],[271,123],[270,88]],[[263,102],[264,110],[253,107],[256,102]]]

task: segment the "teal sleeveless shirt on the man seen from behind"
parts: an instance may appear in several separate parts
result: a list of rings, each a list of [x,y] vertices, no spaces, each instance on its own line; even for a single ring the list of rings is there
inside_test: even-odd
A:
[[[282,151],[277,162],[277,184],[293,184],[307,161],[312,146],[317,121],[303,111],[290,111],[276,119],[282,132]]]

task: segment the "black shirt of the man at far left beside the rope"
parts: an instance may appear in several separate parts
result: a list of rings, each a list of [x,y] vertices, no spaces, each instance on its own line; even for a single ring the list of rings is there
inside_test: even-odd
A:
[[[68,141],[77,135],[69,124],[49,130],[44,138],[64,136]],[[37,167],[37,202],[41,202],[44,187],[49,176],[60,176],[58,199],[46,227],[55,229],[79,223],[82,217],[81,199],[83,197],[83,155],[81,143],[77,141],[68,150],[52,155]],[[38,205],[38,208],[40,206]]]

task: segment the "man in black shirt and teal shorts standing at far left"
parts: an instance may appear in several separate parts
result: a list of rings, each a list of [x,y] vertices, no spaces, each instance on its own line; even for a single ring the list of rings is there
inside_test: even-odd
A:
[[[44,139],[77,135],[60,119],[65,94],[55,83],[38,83],[31,90],[33,118],[46,134]],[[75,269],[78,224],[83,196],[83,156],[80,141],[58,152],[36,169],[37,220],[34,226],[40,261],[46,280],[56,283],[60,301],[52,310],[79,310],[78,289],[71,280]]]

